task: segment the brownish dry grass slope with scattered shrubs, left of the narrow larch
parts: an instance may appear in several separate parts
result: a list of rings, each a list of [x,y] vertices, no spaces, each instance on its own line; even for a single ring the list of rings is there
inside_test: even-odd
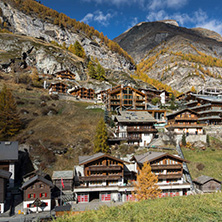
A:
[[[88,110],[89,103],[55,100],[47,90],[27,88],[11,79],[1,81],[0,89],[3,82],[12,89],[23,122],[23,129],[12,140],[30,146],[38,167],[50,174],[72,169],[79,155],[92,154],[101,109]]]

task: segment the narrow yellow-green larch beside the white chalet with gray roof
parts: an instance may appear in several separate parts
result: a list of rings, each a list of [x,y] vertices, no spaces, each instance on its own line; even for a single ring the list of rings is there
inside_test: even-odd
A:
[[[94,152],[108,153],[109,146],[107,140],[108,140],[108,133],[107,133],[106,124],[105,121],[101,119],[96,128],[96,135],[94,140]]]

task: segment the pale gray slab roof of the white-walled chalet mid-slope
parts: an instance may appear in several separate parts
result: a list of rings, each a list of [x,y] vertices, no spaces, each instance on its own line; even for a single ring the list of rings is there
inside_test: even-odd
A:
[[[156,122],[147,111],[120,111],[120,115],[115,118],[118,122]]]

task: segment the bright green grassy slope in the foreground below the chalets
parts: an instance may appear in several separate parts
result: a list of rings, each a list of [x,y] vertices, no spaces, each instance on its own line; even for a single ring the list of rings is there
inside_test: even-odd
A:
[[[100,221],[221,221],[222,194],[162,198],[126,203],[118,207],[103,207],[73,217],[59,218],[56,222]]]

